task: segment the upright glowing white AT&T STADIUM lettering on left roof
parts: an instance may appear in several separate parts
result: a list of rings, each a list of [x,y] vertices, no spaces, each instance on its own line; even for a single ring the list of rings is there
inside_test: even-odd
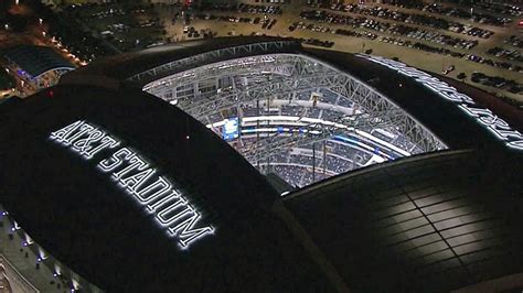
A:
[[[188,198],[158,170],[130,148],[121,146],[121,141],[106,131],[87,123],[76,121],[51,133],[54,142],[68,146],[87,160],[92,160],[102,150],[118,149],[97,164],[103,173],[118,183],[146,210],[154,215],[161,227],[175,237],[181,249],[189,248],[196,240],[214,234],[212,226],[196,228],[202,218]]]

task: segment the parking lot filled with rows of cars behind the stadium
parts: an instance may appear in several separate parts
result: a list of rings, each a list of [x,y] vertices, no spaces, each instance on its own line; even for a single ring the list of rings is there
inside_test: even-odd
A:
[[[360,6],[357,1],[345,1],[349,3],[344,6],[308,4],[307,0],[293,0],[291,4],[241,2],[198,11],[162,3],[132,10],[99,4],[96,9],[83,8],[82,17],[121,51],[205,37],[291,36],[302,39],[306,45],[394,57],[438,74],[453,66],[445,74],[453,78],[462,74],[466,78],[460,80],[523,104],[523,95],[516,90],[523,83],[519,53],[523,42],[514,26],[514,19],[521,15],[515,8],[484,4],[474,7],[470,17],[469,8],[447,1],[408,8]],[[508,83],[510,87],[477,83],[478,78],[471,79],[473,73],[513,83]]]

